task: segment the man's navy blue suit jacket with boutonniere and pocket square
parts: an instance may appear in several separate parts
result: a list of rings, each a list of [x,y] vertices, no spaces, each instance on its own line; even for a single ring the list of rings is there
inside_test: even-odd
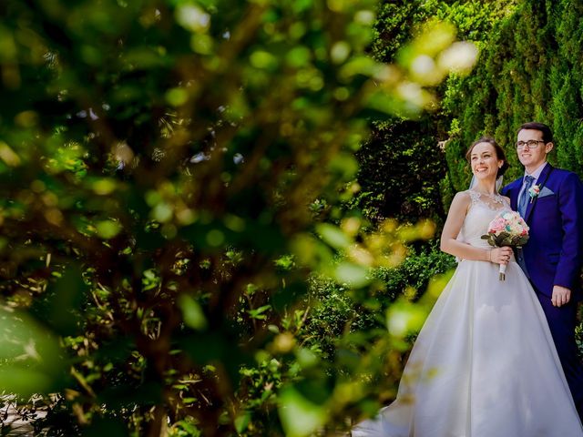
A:
[[[523,178],[501,190],[517,210]],[[537,179],[541,191],[528,203],[525,220],[530,228],[523,248],[529,279],[535,288],[552,296],[560,285],[580,299],[580,269],[583,257],[583,186],[577,174],[550,164]]]

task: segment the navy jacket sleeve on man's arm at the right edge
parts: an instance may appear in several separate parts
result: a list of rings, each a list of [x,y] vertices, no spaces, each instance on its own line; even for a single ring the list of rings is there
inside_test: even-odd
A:
[[[559,188],[558,208],[563,243],[554,284],[575,290],[578,289],[583,255],[583,187],[574,173],[569,173]]]

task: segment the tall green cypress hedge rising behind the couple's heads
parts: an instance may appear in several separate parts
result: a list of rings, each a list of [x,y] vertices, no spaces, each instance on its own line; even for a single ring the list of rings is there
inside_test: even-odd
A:
[[[578,1],[519,2],[497,23],[483,46],[476,72],[444,101],[453,118],[447,143],[448,177],[462,189],[470,175],[463,152],[482,134],[496,137],[511,168],[506,180],[522,175],[517,128],[527,121],[547,123],[555,136],[550,161],[583,176],[581,149],[581,28]],[[518,37],[519,35],[519,37]]]

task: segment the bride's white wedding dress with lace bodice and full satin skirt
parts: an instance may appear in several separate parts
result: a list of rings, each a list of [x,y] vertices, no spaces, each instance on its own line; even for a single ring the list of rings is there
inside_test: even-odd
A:
[[[457,239],[489,248],[480,237],[509,207],[470,194]],[[396,400],[353,437],[583,436],[535,292],[514,259],[506,280],[498,268],[460,261],[415,341]]]

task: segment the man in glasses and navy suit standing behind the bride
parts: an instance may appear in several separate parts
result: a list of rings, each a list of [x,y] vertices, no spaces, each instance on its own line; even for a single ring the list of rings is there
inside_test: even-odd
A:
[[[579,274],[583,260],[583,188],[578,176],[553,168],[547,154],[552,132],[543,123],[525,123],[517,131],[517,154],[524,178],[502,189],[527,221],[530,239],[517,261],[530,279],[547,316],[568,385],[583,418],[583,367],[575,342]]]

